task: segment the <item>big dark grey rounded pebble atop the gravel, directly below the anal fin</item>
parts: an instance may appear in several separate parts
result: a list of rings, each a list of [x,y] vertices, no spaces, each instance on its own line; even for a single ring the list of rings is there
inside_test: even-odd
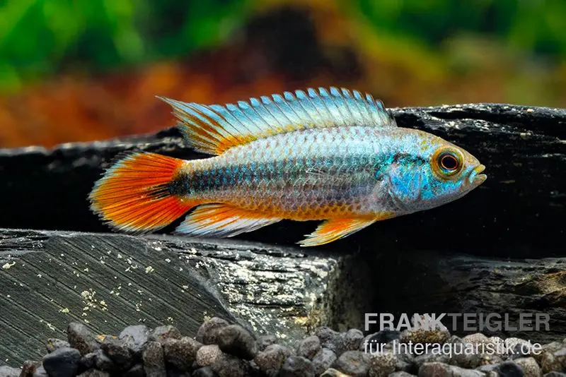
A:
[[[241,359],[251,360],[258,354],[258,345],[253,335],[241,325],[220,328],[216,334],[216,342],[222,352]]]

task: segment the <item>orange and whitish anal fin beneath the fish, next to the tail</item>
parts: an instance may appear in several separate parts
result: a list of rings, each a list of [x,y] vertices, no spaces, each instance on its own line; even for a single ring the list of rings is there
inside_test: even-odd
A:
[[[233,237],[280,220],[227,204],[204,204],[188,215],[175,233],[193,237]]]

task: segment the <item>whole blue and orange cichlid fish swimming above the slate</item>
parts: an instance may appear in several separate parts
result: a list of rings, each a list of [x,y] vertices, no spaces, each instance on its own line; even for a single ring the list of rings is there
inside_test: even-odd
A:
[[[383,102],[358,90],[308,88],[224,105],[158,98],[186,143],[210,157],[118,156],[88,196],[118,232],[183,220],[174,234],[223,238],[322,220],[299,242],[320,246],[455,201],[487,179],[468,151],[398,126]]]

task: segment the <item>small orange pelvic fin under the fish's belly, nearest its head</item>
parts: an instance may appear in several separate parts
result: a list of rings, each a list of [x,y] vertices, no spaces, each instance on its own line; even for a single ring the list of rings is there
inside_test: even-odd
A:
[[[322,224],[318,225],[315,232],[308,234],[306,239],[299,242],[299,245],[305,247],[328,244],[329,242],[347,237],[352,233],[364,229],[377,220],[380,220],[380,218],[345,218],[326,220]]]

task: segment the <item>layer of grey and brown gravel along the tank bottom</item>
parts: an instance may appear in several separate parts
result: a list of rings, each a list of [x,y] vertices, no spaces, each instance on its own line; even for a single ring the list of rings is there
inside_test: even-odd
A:
[[[400,347],[408,344],[403,340],[455,349],[499,345],[514,354],[416,354]],[[67,340],[46,341],[42,361],[26,361],[21,369],[0,366],[0,377],[566,377],[566,341],[543,345],[540,352],[525,345],[516,337],[460,338],[438,328],[364,335],[322,327],[291,340],[256,336],[221,318],[202,323],[195,337],[171,325],[131,325],[114,336],[70,323]]]

